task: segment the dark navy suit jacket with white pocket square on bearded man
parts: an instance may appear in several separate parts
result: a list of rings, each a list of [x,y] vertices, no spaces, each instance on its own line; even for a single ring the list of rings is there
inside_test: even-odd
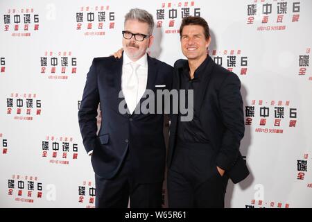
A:
[[[137,182],[160,182],[164,179],[166,146],[163,114],[121,114],[119,98],[123,58],[94,58],[87,74],[80,110],[80,133],[87,152],[92,151],[92,166],[99,176],[116,175],[130,149],[133,176]],[[155,85],[171,89],[173,67],[148,56],[146,89]],[[141,99],[141,102],[144,99]],[[101,129],[96,135],[98,103],[101,104]]]

